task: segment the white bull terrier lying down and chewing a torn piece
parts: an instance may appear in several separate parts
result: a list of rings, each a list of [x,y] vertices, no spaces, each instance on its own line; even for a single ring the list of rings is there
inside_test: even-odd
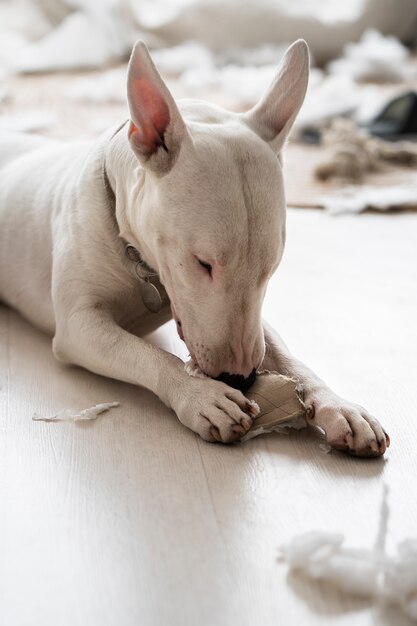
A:
[[[258,368],[297,377],[335,448],[383,454],[388,436],[331,391],[261,320],[285,243],[281,151],[308,82],[297,41],[244,114],[176,103],[143,43],[130,120],[94,143],[3,135],[0,298],[54,336],[57,359],[142,385],[206,441],[252,423]],[[211,378],[141,338],[171,315]]]

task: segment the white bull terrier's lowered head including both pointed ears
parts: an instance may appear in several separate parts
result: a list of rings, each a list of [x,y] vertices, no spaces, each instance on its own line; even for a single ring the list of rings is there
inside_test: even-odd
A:
[[[297,41],[258,104],[238,114],[175,103],[141,42],[129,64],[129,140],[143,166],[132,232],[195,363],[241,388],[264,356],[261,307],[285,243],[280,155],[308,66]]]

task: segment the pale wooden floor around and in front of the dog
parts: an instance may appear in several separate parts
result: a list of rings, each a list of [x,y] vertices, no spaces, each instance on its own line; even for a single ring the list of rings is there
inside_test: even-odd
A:
[[[370,547],[382,485],[388,548],[417,536],[417,215],[293,210],[265,316],[391,435],[384,460],[325,454],[311,433],[207,444],[151,393],[55,362],[0,306],[0,622],[5,626],[393,624],[288,576],[310,529]],[[168,325],[155,340],[181,349]],[[96,422],[34,412],[121,403]]]

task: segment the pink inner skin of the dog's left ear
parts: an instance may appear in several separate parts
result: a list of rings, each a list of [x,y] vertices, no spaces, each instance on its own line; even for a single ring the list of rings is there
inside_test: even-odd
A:
[[[129,128],[129,139],[143,154],[153,154],[162,144],[169,124],[169,108],[164,98],[146,77],[131,82],[131,98],[135,121]]]

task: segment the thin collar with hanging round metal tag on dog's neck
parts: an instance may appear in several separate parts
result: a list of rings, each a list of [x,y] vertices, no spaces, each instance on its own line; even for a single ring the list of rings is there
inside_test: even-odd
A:
[[[116,132],[111,136],[113,137],[123,128],[126,124],[124,122],[122,126],[120,126]],[[103,183],[104,189],[106,191],[107,202],[112,209],[112,212],[115,213],[116,210],[116,195],[113,191],[113,188],[110,184],[109,177],[107,175],[106,170],[106,158],[103,158]],[[152,313],[158,313],[161,308],[164,300],[167,300],[166,291],[159,281],[158,272],[152,269],[143,259],[141,253],[135,246],[131,243],[125,241],[125,251],[126,256],[134,262],[135,264],[135,274],[140,281],[140,295],[142,298],[143,304],[146,306],[148,311]],[[152,282],[152,279],[155,280],[156,284]]]

